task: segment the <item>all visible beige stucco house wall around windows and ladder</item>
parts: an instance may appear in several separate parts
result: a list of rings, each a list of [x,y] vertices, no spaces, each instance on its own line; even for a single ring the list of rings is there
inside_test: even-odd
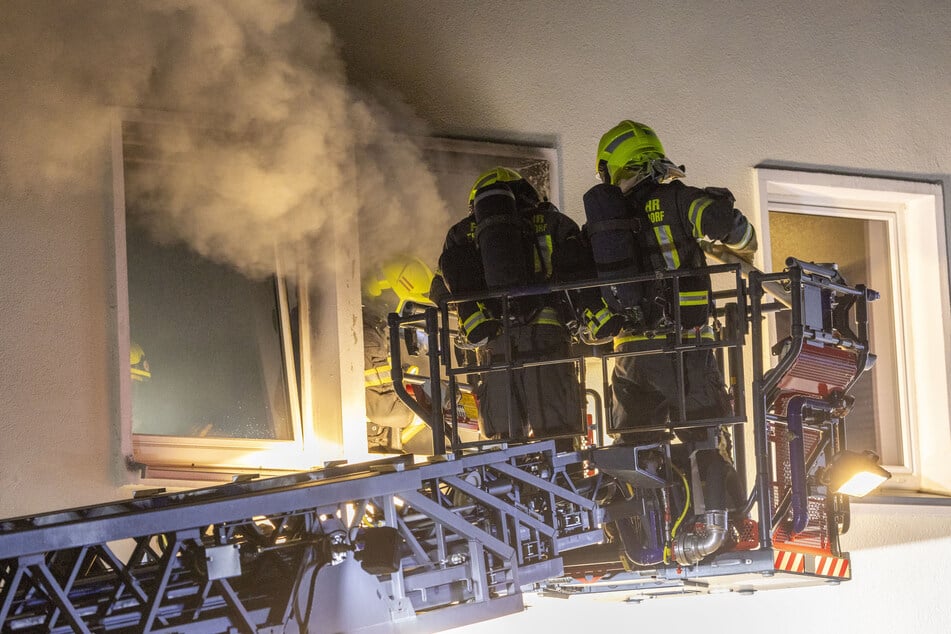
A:
[[[764,162],[951,183],[944,0],[315,6],[351,81],[408,106],[433,133],[556,147],[564,210],[577,219],[597,140],[624,118],[658,131],[687,182],[729,187],[741,209]],[[101,189],[68,208],[42,204],[48,192],[0,189],[19,210],[0,216],[0,517],[129,495],[115,475],[122,369],[112,361],[108,139],[86,158],[75,177]],[[857,506],[845,537],[855,579],[839,587],[677,604],[572,600],[473,631],[555,614],[564,620],[550,631],[946,632],[948,535],[942,509]]]

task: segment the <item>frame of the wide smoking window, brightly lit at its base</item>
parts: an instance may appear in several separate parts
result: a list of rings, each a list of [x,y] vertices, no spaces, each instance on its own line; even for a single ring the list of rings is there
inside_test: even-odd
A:
[[[116,367],[118,380],[118,418],[120,459],[125,463],[126,484],[170,484],[228,480],[240,473],[261,475],[300,471],[320,467],[332,460],[365,460],[366,411],[363,376],[363,334],[354,324],[361,318],[359,245],[356,218],[337,216],[325,236],[327,249],[333,251],[333,280],[321,281],[321,306],[309,303],[312,282],[308,279],[306,254],[275,254],[278,279],[279,312],[282,331],[289,332],[290,316],[285,271],[296,267],[297,296],[300,311],[300,386],[293,367],[294,354],[289,337],[282,339],[285,378],[294,438],[267,440],[244,438],[195,438],[136,434],[132,431],[132,381],[129,376],[129,287],[126,255],[126,196],[124,185],[123,121],[146,121],[181,125],[183,117],[153,111],[116,109],[112,125],[113,215],[117,297]],[[549,198],[560,202],[561,179],[557,150],[483,141],[425,137],[414,141],[423,152],[455,152],[481,160],[483,157],[546,161],[550,166]],[[460,192],[464,199],[467,192]],[[460,211],[464,213],[464,209]],[[325,254],[326,256],[326,251]],[[340,271],[349,273],[341,274]],[[317,318],[323,335],[313,340],[305,324]],[[334,336],[336,333],[336,336]],[[312,345],[313,344],[313,345]],[[312,376],[321,368],[319,384]],[[299,397],[299,398],[298,398]]]

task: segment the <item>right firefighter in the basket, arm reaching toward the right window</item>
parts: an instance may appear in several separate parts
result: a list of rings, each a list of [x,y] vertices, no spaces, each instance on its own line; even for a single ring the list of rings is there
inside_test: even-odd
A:
[[[733,195],[726,189],[682,183],[683,166],[667,158],[650,127],[626,120],[605,133],[598,144],[597,173],[601,183],[585,194],[584,206],[585,230],[600,278],[702,269],[706,259],[698,242],[701,238],[720,241],[744,260],[752,260],[756,232],[734,208]],[[678,297],[672,296],[672,287],[670,280],[602,287],[608,305],[628,318],[628,327],[614,340],[615,351],[662,348],[677,327],[685,343],[713,339],[709,275],[680,277]],[[679,302],[679,324],[673,323],[674,302]],[[712,350],[685,353],[681,377],[676,355],[619,357],[611,385],[612,433],[622,442],[668,440],[665,432],[635,431],[681,419],[679,379],[684,386],[684,420],[732,415]],[[685,442],[705,441],[709,447],[716,442],[717,431],[685,428],[676,434]],[[726,452],[721,453],[725,459]],[[707,469],[717,472],[711,472],[711,478],[731,477],[732,467],[715,456],[706,455],[704,462]],[[728,500],[716,496],[707,500],[708,508],[726,508]]]

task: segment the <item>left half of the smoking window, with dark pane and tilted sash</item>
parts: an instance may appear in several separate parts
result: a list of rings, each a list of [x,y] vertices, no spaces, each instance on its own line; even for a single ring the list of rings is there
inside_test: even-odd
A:
[[[154,201],[134,185],[163,162],[189,160],[160,143],[181,125],[129,112],[114,124],[123,455],[153,478],[309,466],[307,289],[285,274],[296,262],[273,250],[271,272],[252,277],[159,239]]]

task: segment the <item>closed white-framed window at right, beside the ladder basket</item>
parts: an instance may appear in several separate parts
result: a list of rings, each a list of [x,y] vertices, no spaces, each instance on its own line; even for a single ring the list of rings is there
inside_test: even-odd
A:
[[[849,446],[882,456],[890,488],[951,492],[940,186],[770,169],[758,170],[758,186],[767,268],[782,268],[787,256],[835,262],[850,284],[881,294],[870,306],[878,360],[853,388]]]

